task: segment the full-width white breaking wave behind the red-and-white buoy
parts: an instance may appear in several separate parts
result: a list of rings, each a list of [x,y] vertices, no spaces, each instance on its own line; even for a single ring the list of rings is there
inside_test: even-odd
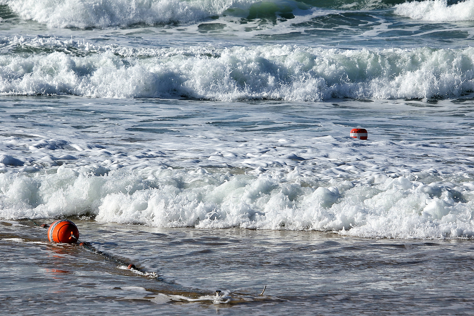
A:
[[[474,90],[472,47],[338,50],[263,45],[141,49],[74,41],[57,45],[99,54],[74,56],[55,51],[26,57],[0,55],[0,93],[315,101],[452,97]]]

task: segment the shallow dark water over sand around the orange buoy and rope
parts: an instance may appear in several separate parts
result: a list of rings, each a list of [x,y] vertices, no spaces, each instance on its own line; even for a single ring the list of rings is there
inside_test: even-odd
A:
[[[46,229],[31,221],[4,221],[2,315],[36,315],[38,309],[81,315],[104,309],[136,315],[465,315],[473,307],[471,241],[75,222],[81,239],[96,249],[161,277],[136,276],[78,245],[46,243]],[[216,289],[233,301],[164,298],[214,295]]]

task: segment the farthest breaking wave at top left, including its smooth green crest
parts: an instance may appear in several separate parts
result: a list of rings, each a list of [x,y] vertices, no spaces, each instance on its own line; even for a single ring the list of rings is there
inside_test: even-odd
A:
[[[128,27],[136,24],[194,24],[237,18],[294,18],[293,11],[310,6],[294,0],[0,0],[25,20],[48,27]]]

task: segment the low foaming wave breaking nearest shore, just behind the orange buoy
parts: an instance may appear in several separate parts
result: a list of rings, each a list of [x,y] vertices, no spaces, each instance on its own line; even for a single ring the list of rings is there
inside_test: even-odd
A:
[[[474,235],[469,181],[423,184],[381,173],[370,184],[308,185],[312,177],[297,168],[252,175],[161,167],[142,176],[92,169],[60,167],[35,177],[0,173],[0,218],[93,214],[97,221],[158,227],[312,229],[389,238]]]

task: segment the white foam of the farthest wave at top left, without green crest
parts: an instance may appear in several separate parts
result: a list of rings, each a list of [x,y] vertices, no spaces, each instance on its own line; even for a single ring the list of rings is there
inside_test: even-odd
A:
[[[193,23],[251,0],[1,0],[23,19],[49,27],[110,27],[137,23]]]

